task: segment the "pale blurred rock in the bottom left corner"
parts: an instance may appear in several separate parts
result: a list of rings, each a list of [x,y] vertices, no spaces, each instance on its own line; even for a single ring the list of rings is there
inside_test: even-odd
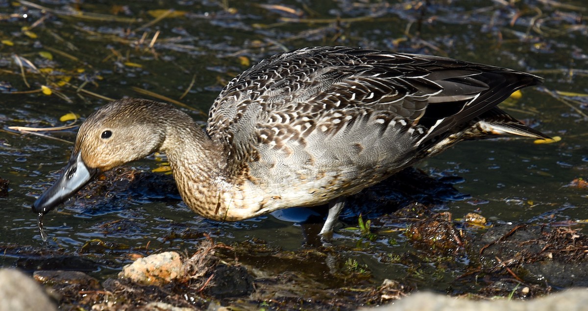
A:
[[[15,269],[0,269],[0,311],[20,310],[56,311],[57,307],[30,276]]]

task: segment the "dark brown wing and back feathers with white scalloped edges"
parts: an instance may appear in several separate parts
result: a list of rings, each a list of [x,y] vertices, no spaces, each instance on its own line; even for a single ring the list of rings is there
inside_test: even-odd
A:
[[[489,111],[512,92],[541,82],[529,73],[438,56],[304,48],[271,56],[233,79],[213,103],[207,131],[242,158],[252,156],[245,152],[255,150],[260,127],[278,133],[280,124],[312,128],[313,120],[334,111],[382,112],[419,129],[413,131],[416,148],[463,131],[481,115],[495,116]],[[345,121],[333,120],[333,128]]]

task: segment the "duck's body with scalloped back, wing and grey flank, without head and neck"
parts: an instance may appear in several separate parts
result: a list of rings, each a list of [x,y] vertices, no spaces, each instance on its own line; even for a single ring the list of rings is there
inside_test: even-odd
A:
[[[248,163],[249,182],[292,196],[293,205],[320,203],[397,172],[480,115],[500,115],[499,102],[538,83],[527,73],[436,56],[305,48],[229,82],[207,132],[230,161]]]

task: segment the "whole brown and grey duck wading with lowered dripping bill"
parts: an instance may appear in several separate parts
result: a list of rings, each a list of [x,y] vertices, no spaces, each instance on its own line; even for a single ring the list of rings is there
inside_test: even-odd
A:
[[[346,46],[278,53],[236,76],[201,128],[169,103],[123,98],[93,112],[39,216],[101,172],[163,152],[183,202],[238,221],[328,205],[330,238],[345,198],[460,141],[551,139],[497,105],[539,76],[441,56]]]

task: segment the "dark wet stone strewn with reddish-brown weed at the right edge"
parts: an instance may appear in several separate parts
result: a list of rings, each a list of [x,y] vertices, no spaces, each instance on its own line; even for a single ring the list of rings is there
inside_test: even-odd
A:
[[[588,236],[577,230],[497,226],[472,248],[487,278],[504,275],[542,287],[588,286]]]

